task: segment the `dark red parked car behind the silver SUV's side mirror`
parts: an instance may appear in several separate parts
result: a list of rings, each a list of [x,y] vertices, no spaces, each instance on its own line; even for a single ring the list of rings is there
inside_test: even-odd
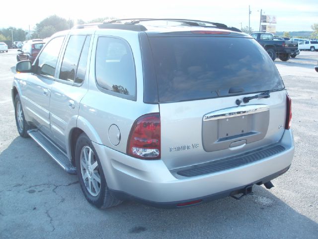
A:
[[[45,42],[36,41],[36,42],[27,42],[22,46],[22,49],[18,50],[20,53],[17,54],[17,61],[30,60],[31,63],[34,62],[36,56],[39,54],[40,50],[44,46]]]

